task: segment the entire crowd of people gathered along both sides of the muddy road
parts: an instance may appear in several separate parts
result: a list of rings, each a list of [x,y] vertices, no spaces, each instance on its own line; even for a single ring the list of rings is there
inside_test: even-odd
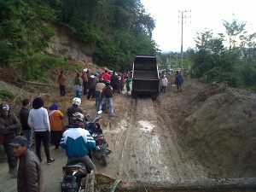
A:
[[[64,114],[58,109],[57,103],[53,103],[48,109],[44,108],[44,101],[37,97],[30,101],[24,99],[20,108],[20,120],[10,113],[8,103],[0,104],[0,142],[3,144],[7,155],[10,177],[17,177],[17,189],[19,192],[44,191],[44,179],[42,177],[41,143],[44,145],[46,163],[55,162],[49,153],[49,145],[55,149],[64,148],[67,154],[67,163],[73,160],[82,160],[89,170],[96,172],[96,166],[90,160],[89,151],[96,147],[95,140],[89,131],[84,130],[84,121],[90,116],[79,107],[81,95],[87,100],[95,100],[97,111],[110,109],[110,116],[114,115],[113,95],[120,94],[126,87],[128,94],[131,84],[131,73],[90,73],[85,68],[80,75],[77,73],[74,79],[75,97],[72,106],[67,108],[67,119],[70,129],[64,131]],[[63,71],[58,77],[60,96],[66,96],[67,79]],[[182,90],[183,77],[177,71],[175,84],[177,90]],[[166,73],[160,75],[160,91],[166,92],[168,81]],[[31,108],[32,105],[32,108]],[[31,109],[30,109],[31,108]],[[20,134],[21,130],[21,134]],[[20,136],[21,135],[21,136]],[[32,152],[35,140],[36,153]],[[19,168],[17,169],[19,159]],[[29,168],[28,168],[29,167]]]

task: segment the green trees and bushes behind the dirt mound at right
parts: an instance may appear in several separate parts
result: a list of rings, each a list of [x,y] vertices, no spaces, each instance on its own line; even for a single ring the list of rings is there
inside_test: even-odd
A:
[[[236,19],[224,20],[223,25],[226,34],[219,33],[217,37],[212,30],[197,33],[195,49],[183,53],[183,74],[205,83],[224,82],[256,90],[256,32],[248,34],[246,22]],[[178,58],[180,53],[161,55],[162,61],[167,61],[164,67],[171,63],[172,67],[180,68]]]

